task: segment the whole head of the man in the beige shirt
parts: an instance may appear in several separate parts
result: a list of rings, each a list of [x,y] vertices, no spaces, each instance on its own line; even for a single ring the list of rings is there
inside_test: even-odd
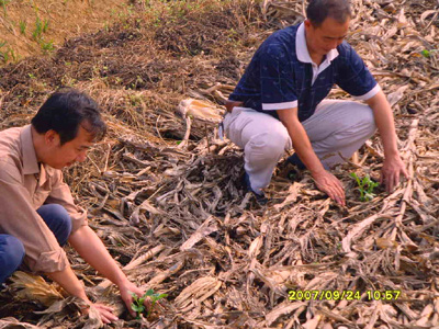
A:
[[[32,118],[32,127],[38,161],[56,169],[83,161],[106,132],[99,105],[75,89],[53,93]]]

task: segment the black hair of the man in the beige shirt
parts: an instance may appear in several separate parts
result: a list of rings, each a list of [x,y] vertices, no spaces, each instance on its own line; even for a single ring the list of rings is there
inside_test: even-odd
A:
[[[55,131],[60,145],[75,139],[80,126],[93,135],[93,141],[101,140],[106,133],[98,103],[72,88],[54,92],[32,118],[32,126],[38,134]]]

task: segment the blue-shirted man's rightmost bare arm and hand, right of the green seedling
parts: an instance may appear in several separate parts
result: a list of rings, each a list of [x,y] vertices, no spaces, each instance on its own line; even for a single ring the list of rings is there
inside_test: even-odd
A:
[[[396,145],[395,123],[392,109],[381,90],[365,102],[373,111],[375,124],[384,146],[384,163],[380,180],[381,183],[385,184],[386,191],[392,192],[399,183],[401,174],[408,178],[407,170],[401,159]]]

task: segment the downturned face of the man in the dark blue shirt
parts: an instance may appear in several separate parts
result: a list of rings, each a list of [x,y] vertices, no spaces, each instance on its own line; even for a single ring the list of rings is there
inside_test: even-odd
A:
[[[331,49],[337,48],[349,30],[348,19],[345,23],[339,23],[331,18],[323,21],[322,25],[316,27],[311,21],[305,21],[306,44],[311,56],[324,56]]]

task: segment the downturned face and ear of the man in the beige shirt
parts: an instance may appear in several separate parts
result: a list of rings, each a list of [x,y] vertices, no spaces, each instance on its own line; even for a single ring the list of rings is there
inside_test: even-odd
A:
[[[75,162],[82,162],[87,158],[87,151],[93,145],[93,135],[79,126],[77,136],[70,141],[60,145],[59,135],[54,131],[46,133],[46,146],[49,154],[44,162],[52,168],[63,169]]]

